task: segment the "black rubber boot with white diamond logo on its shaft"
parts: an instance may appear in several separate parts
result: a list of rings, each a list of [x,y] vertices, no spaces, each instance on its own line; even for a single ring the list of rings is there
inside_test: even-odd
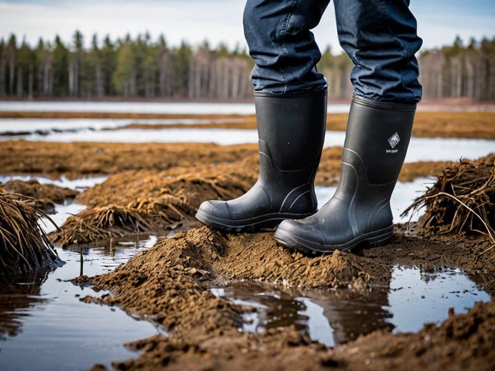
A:
[[[275,239],[314,254],[350,251],[364,242],[388,243],[393,235],[390,198],[406,157],[415,109],[415,104],[354,97],[336,194],[316,214],[283,221]]]

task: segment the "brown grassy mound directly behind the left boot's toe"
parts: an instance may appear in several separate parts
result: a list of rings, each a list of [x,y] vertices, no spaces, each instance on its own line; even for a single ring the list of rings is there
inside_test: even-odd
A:
[[[80,194],[78,201],[91,208],[70,216],[50,238],[65,247],[196,223],[202,201],[240,196],[252,186],[254,175],[232,165],[177,177],[148,171],[114,175]]]

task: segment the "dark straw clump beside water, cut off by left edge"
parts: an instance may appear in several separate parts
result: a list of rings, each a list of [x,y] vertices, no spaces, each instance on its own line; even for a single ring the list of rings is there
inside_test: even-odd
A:
[[[56,251],[39,225],[46,215],[33,205],[36,200],[0,187],[0,276],[4,278],[56,267]]]

